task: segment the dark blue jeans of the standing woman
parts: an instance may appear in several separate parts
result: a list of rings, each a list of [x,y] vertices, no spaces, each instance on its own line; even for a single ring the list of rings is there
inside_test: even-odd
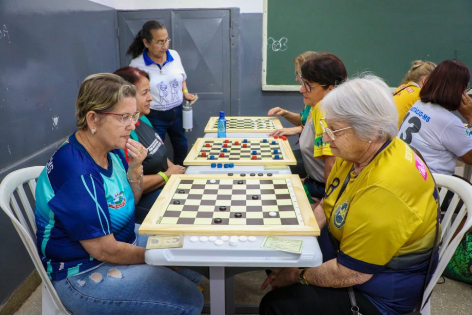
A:
[[[146,115],[151,122],[155,132],[159,134],[162,141],[165,140],[166,132],[169,135],[172,148],[174,149],[173,163],[183,165],[188,153],[187,136],[182,125],[182,105],[166,111],[151,109]]]

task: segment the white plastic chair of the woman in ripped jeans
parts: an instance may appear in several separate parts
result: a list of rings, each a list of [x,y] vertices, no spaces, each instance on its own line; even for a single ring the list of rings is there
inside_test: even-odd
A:
[[[32,166],[8,174],[0,184],[0,207],[10,218],[23,244],[25,244],[37,272],[41,275],[43,280],[43,314],[69,314],[57,296],[36,248],[35,189],[36,179],[43,169],[44,166]],[[25,191],[25,188],[28,187],[29,190]],[[22,209],[28,218],[29,225]]]

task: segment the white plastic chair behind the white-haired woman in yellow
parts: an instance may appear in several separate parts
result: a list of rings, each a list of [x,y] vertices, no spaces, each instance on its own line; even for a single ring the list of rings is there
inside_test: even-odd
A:
[[[436,184],[441,188],[439,192],[439,202],[442,205],[446,196],[447,191],[454,193],[453,198],[450,200],[449,206],[445,212],[443,212],[443,218],[441,220],[441,241],[442,245],[439,249],[439,262],[438,267],[432,274],[432,278],[426,286],[426,290],[423,293],[423,300],[421,303],[421,313],[423,315],[429,315],[431,313],[430,299],[432,289],[441,277],[444,269],[451,257],[453,257],[457,246],[461,242],[464,234],[467,230],[472,227],[472,185],[466,181],[457,178],[455,176],[444,175],[444,174],[432,174]],[[460,210],[455,213],[459,201],[463,201],[463,205]],[[461,230],[453,238],[455,231],[459,227],[462,219],[467,215],[467,219],[462,226]]]

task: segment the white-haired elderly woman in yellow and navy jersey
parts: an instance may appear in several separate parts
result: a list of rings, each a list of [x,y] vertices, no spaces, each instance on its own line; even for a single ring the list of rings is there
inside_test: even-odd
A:
[[[351,289],[363,314],[409,312],[421,299],[437,232],[434,180],[396,137],[398,114],[380,78],[348,80],[321,106],[323,141],[337,159],[314,212],[337,250],[319,267],[273,271],[262,287],[277,289],[260,312],[351,314]]]

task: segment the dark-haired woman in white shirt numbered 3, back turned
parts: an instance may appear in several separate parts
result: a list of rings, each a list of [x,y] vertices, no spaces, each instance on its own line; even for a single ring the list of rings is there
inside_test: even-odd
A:
[[[472,102],[466,92],[470,72],[458,60],[445,60],[429,74],[420,101],[406,113],[400,139],[421,152],[432,173],[454,174],[457,159],[472,164]],[[464,127],[459,113],[467,120]]]

